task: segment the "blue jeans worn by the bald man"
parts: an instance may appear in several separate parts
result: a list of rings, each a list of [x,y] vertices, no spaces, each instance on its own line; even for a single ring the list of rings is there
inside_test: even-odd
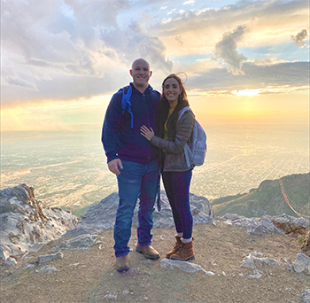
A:
[[[137,198],[140,198],[137,237],[139,245],[151,245],[154,204],[159,181],[159,162],[140,164],[121,161],[123,169],[117,175],[119,184],[119,207],[114,225],[114,251],[116,257],[129,253],[132,218]]]

